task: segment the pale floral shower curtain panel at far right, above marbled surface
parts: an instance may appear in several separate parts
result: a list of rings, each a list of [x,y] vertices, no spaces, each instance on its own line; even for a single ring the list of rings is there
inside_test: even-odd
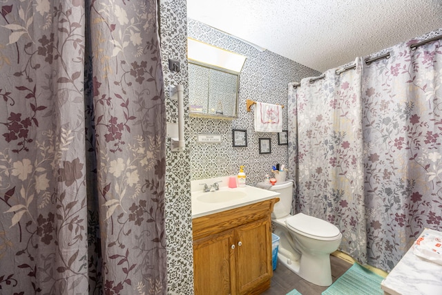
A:
[[[363,69],[368,259],[386,270],[442,230],[442,41],[413,43]]]

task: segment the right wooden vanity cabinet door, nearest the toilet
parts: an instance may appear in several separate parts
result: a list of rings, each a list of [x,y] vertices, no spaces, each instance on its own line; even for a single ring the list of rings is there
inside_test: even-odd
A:
[[[270,221],[265,218],[242,225],[236,236],[238,294],[249,294],[273,275]]]

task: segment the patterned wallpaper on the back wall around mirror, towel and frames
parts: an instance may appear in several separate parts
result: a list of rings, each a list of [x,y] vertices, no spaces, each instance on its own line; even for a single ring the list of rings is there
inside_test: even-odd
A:
[[[236,38],[193,19],[188,19],[188,35],[213,46],[247,56],[240,73],[238,119],[214,120],[190,117],[189,148],[191,180],[236,175],[244,165],[247,184],[256,184],[270,172],[272,164],[287,165],[287,145],[278,145],[278,133],[256,133],[253,127],[254,106],[246,111],[246,99],[287,106],[287,84],[304,77],[320,75],[316,70],[250,46]],[[283,130],[287,130],[287,107],[282,109]],[[232,129],[247,130],[247,147],[232,146]],[[197,142],[198,134],[220,134],[222,143]],[[259,138],[271,139],[271,153],[260,154]]]

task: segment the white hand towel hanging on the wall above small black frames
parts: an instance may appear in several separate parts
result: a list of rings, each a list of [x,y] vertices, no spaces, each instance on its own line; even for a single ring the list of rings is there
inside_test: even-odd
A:
[[[256,102],[255,132],[282,132],[282,106]]]

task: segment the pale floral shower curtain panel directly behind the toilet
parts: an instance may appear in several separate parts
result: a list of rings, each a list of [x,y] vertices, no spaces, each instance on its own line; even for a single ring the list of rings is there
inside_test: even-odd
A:
[[[361,70],[356,59],[356,70],[302,79],[298,91],[289,85],[289,162],[295,211],[332,222],[342,251],[366,263]]]

